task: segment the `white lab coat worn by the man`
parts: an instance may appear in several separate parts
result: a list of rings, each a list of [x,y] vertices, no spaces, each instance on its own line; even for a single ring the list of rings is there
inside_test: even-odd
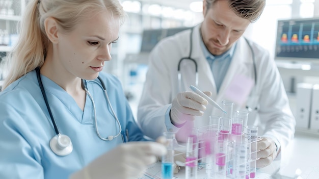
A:
[[[192,58],[197,62],[199,73],[198,88],[211,91],[211,98],[221,104],[233,76],[244,74],[255,81],[252,52],[244,37],[237,40],[229,69],[217,93],[214,76],[200,45],[199,28],[200,25],[197,25],[192,35]],[[176,94],[180,91],[191,91],[189,86],[195,85],[194,62],[183,60],[180,65],[182,89],[178,87],[177,66],[181,58],[190,54],[190,32],[186,30],[160,41],[150,53],[149,69],[139,104],[138,122],[143,132],[151,138],[155,139],[167,131],[165,114]],[[296,121],[291,113],[280,73],[267,50],[253,42],[250,43],[255,54],[257,83],[245,105],[234,105],[233,111],[246,110],[246,105],[252,109],[257,107],[258,110],[249,113],[248,125],[257,125],[258,135],[272,137],[276,144],[285,146],[294,137]],[[208,125],[209,115],[220,115],[217,108],[211,105],[206,107],[204,115],[196,117],[196,127]]]

